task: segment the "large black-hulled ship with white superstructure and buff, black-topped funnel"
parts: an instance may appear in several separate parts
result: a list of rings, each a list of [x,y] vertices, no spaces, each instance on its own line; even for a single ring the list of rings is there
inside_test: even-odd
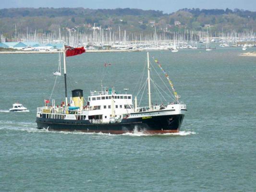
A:
[[[136,96],[116,91],[114,87],[104,87],[100,91],[91,91],[84,98],[83,90],[72,90],[69,102],[66,86],[65,55],[70,48],[64,49],[65,102],[55,105],[52,99],[46,106],[37,108],[37,128],[56,131],[82,131],[122,134],[125,132],[144,132],[148,134],[179,132],[186,105],[176,100],[167,104],[152,105],[150,93],[150,67],[147,52],[148,106],[138,107]],[[82,51],[83,52],[83,51]],[[78,53],[80,54],[80,52]],[[72,54],[71,54],[72,55]],[[76,55],[76,54],[73,54]],[[72,55],[72,56],[73,56]],[[85,101],[85,102],[84,102]]]

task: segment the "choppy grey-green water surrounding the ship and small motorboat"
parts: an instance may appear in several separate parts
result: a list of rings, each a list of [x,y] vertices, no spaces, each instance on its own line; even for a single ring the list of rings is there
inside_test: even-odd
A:
[[[164,135],[37,130],[58,56],[0,55],[0,191],[256,191],[256,58],[241,52],[150,52],[188,108],[181,132]],[[107,62],[103,85],[133,93],[145,60],[145,52],[67,58],[68,86],[84,95],[100,88]],[[57,101],[63,87],[57,80]],[[8,112],[16,101],[30,112]]]

